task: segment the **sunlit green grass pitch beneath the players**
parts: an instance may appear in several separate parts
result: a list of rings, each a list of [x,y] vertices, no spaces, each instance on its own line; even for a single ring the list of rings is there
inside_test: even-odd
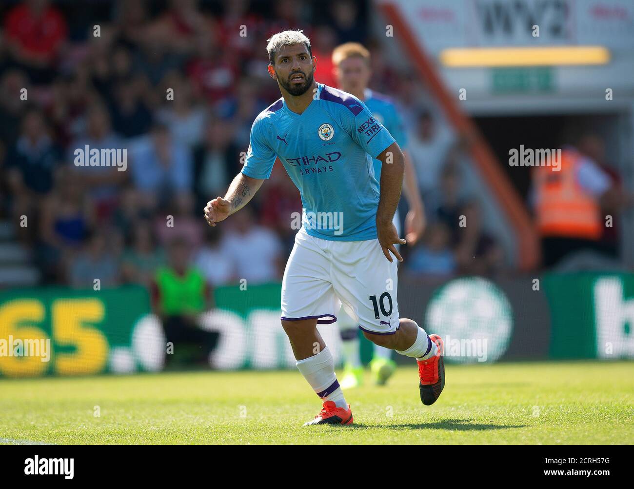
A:
[[[631,444],[633,367],[449,364],[431,407],[401,367],[346,391],[353,426],[311,427],[320,401],[293,370],[0,379],[0,443]]]

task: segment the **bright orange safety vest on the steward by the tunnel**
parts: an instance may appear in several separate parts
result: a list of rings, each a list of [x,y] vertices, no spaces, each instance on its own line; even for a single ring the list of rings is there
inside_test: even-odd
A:
[[[598,240],[602,230],[597,199],[576,179],[581,155],[564,150],[561,159],[559,171],[550,166],[533,171],[538,231],[542,236]]]

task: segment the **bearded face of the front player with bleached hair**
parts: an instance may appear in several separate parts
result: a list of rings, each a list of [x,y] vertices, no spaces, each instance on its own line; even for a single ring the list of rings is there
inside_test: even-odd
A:
[[[315,65],[304,44],[282,46],[275,55],[275,65],[269,65],[269,74],[275,74],[273,77],[290,95],[299,96],[313,85]]]

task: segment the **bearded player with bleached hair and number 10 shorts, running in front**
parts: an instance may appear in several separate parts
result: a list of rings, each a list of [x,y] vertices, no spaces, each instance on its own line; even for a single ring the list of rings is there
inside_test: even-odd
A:
[[[403,260],[394,245],[405,240],[392,219],[403,187],[403,152],[365,103],[314,80],[317,59],[301,30],[275,34],[267,51],[269,75],[282,96],[256,117],[242,171],[224,198],[207,202],[205,219],[216,226],[239,211],[279,158],[304,207],[282,280],[280,319],[298,370],[323,401],[306,424],[353,422],[317,329],[337,320],[341,304],[370,341],[417,359],[420,400],[431,405],[444,388],[442,339],[398,313],[392,256]],[[384,165],[380,186],[373,158]]]

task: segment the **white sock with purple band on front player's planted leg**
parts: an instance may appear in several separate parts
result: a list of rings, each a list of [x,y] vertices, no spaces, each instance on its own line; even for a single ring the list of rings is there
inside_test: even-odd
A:
[[[327,346],[317,355],[297,360],[296,365],[321,400],[334,401],[337,407],[348,408],[335,375],[335,361]]]

